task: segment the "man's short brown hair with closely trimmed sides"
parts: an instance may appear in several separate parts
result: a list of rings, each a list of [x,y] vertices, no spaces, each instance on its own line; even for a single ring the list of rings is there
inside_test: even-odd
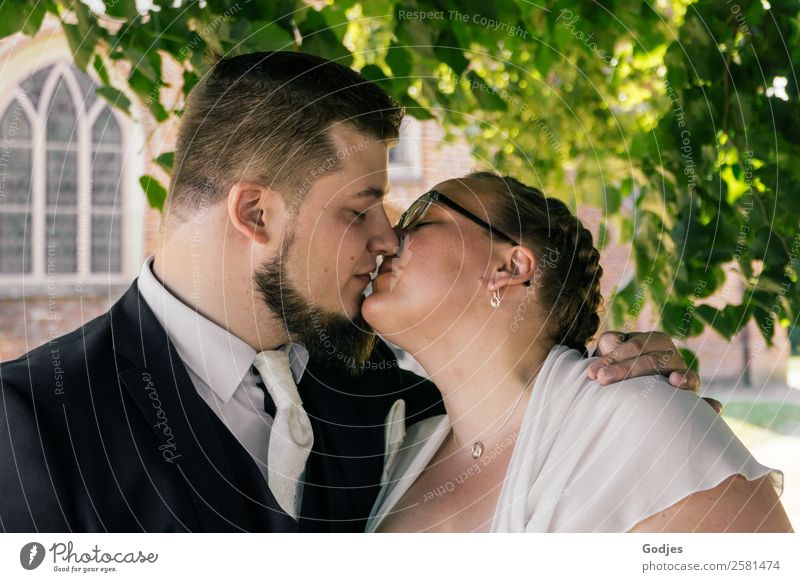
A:
[[[341,161],[332,124],[393,141],[402,118],[385,91],[333,61],[298,52],[220,59],[187,98],[169,212],[185,219],[244,180],[301,199]]]

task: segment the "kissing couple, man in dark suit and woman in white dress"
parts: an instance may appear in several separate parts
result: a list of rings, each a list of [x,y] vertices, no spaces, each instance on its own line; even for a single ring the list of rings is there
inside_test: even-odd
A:
[[[139,277],[0,366],[5,531],[791,528],[670,338],[588,357],[602,268],[563,203],[478,172],[390,222],[402,118],[319,57],[213,66]]]

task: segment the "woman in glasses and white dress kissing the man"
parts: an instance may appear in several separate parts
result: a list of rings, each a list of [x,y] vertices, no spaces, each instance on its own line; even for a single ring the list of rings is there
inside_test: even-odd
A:
[[[439,184],[398,228],[362,311],[447,415],[408,429],[367,531],[791,530],[782,474],[695,394],[586,378],[602,268],[562,202],[482,172]]]

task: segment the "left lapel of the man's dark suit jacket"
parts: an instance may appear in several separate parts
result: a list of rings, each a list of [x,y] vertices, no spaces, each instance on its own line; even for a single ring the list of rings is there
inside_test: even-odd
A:
[[[229,457],[210,417],[213,412],[197,394],[165,330],[140,298],[136,282],[109,315],[114,348],[132,364],[118,372],[119,378],[158,439],[162,462],[174,467],[191,491],[199,529],[253,529]],[[272,523],[267,524],[269,529],[296,529],[268,490],[267,499],[260,501],[276,509],[267,511],[274,515]]]

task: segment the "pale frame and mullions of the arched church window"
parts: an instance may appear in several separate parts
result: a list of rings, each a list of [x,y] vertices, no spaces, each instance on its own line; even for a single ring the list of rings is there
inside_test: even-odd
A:
[[[35,39],[24,39],[9,43],[0,52],[0,112],[5,113],[14,102],[22,104],[31,127],[31,195],[28,205],[19,205],[31,213],[31,271],[22,274],[0,274],[0,296],[23,295],[100,295],[129,285],[139,271],[144,260],[144,237],[142,225],[145,216],[145,197],[137,177],[144,171],[144,136],[139,126],[124,113],[111,107],[105,99],[97,96],[88,111],[78,107],[77,122],[77,164],[78,164],[78,233],[77,233],[77,271],[74,273],[47,273],[47,115],[53,91],[65,69],[72,62],[72,53],[63,33],[40,34]],[[21,90],[20,85],[31,74],[50,65],[56,65],[44,84],[41,95],[34,108]],[[94,78],[89,74],[90,78]],[[77,81],[69,73],[64,76],[73,103],[82,103],[84,95]],[[99,84],[97,86],[100,86]],[[117,212],[121,213],[122,262],[119,273],[91,271],[91,176],[92,176],[92,124],[108,107],[119,125],[122,143],[122,175],[120,176],[118,197],[121,203]],[[4,203],[10,209],[10,203]],[[17,205],[14,205],[17,206]]]

